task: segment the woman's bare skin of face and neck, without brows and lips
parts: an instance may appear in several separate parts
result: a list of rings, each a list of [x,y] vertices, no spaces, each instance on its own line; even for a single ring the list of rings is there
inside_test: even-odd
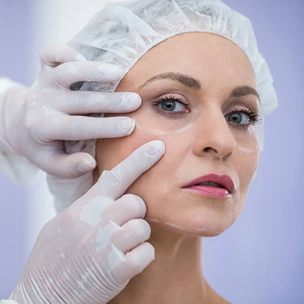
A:
[[[200,81],[201,88],[171,79],[139,88],[166,72],[187,74]],[[222,36],[201,32],[179,34],[150,49],[119,84],[117,92],[138,93],[142,105],[127,114],[136,122],[131,135],[98,139],[94,181],[147,141],[162,140],[166,151],[126,191],[146,204],[144,219],[151,226],[148,242],[155,247],[155,260],[110,303],[225,302],[203,276],[201,237],[217,236],[236,221],[259,161],[254,125],[243,129],[231,117],[227,121],[235,108],[259,112],[255,95],[230,97],[235,87],[244,85],[256,89],[245,53]],[[168,107],[152,105],[166,96],[189,106],[176,102],[174,111],[182,113],[170,118]],[[248,116],[241,117],[244,124]],[[232,196],[217,199],[181,189],[208,173],[229,175],[236,186]]]

